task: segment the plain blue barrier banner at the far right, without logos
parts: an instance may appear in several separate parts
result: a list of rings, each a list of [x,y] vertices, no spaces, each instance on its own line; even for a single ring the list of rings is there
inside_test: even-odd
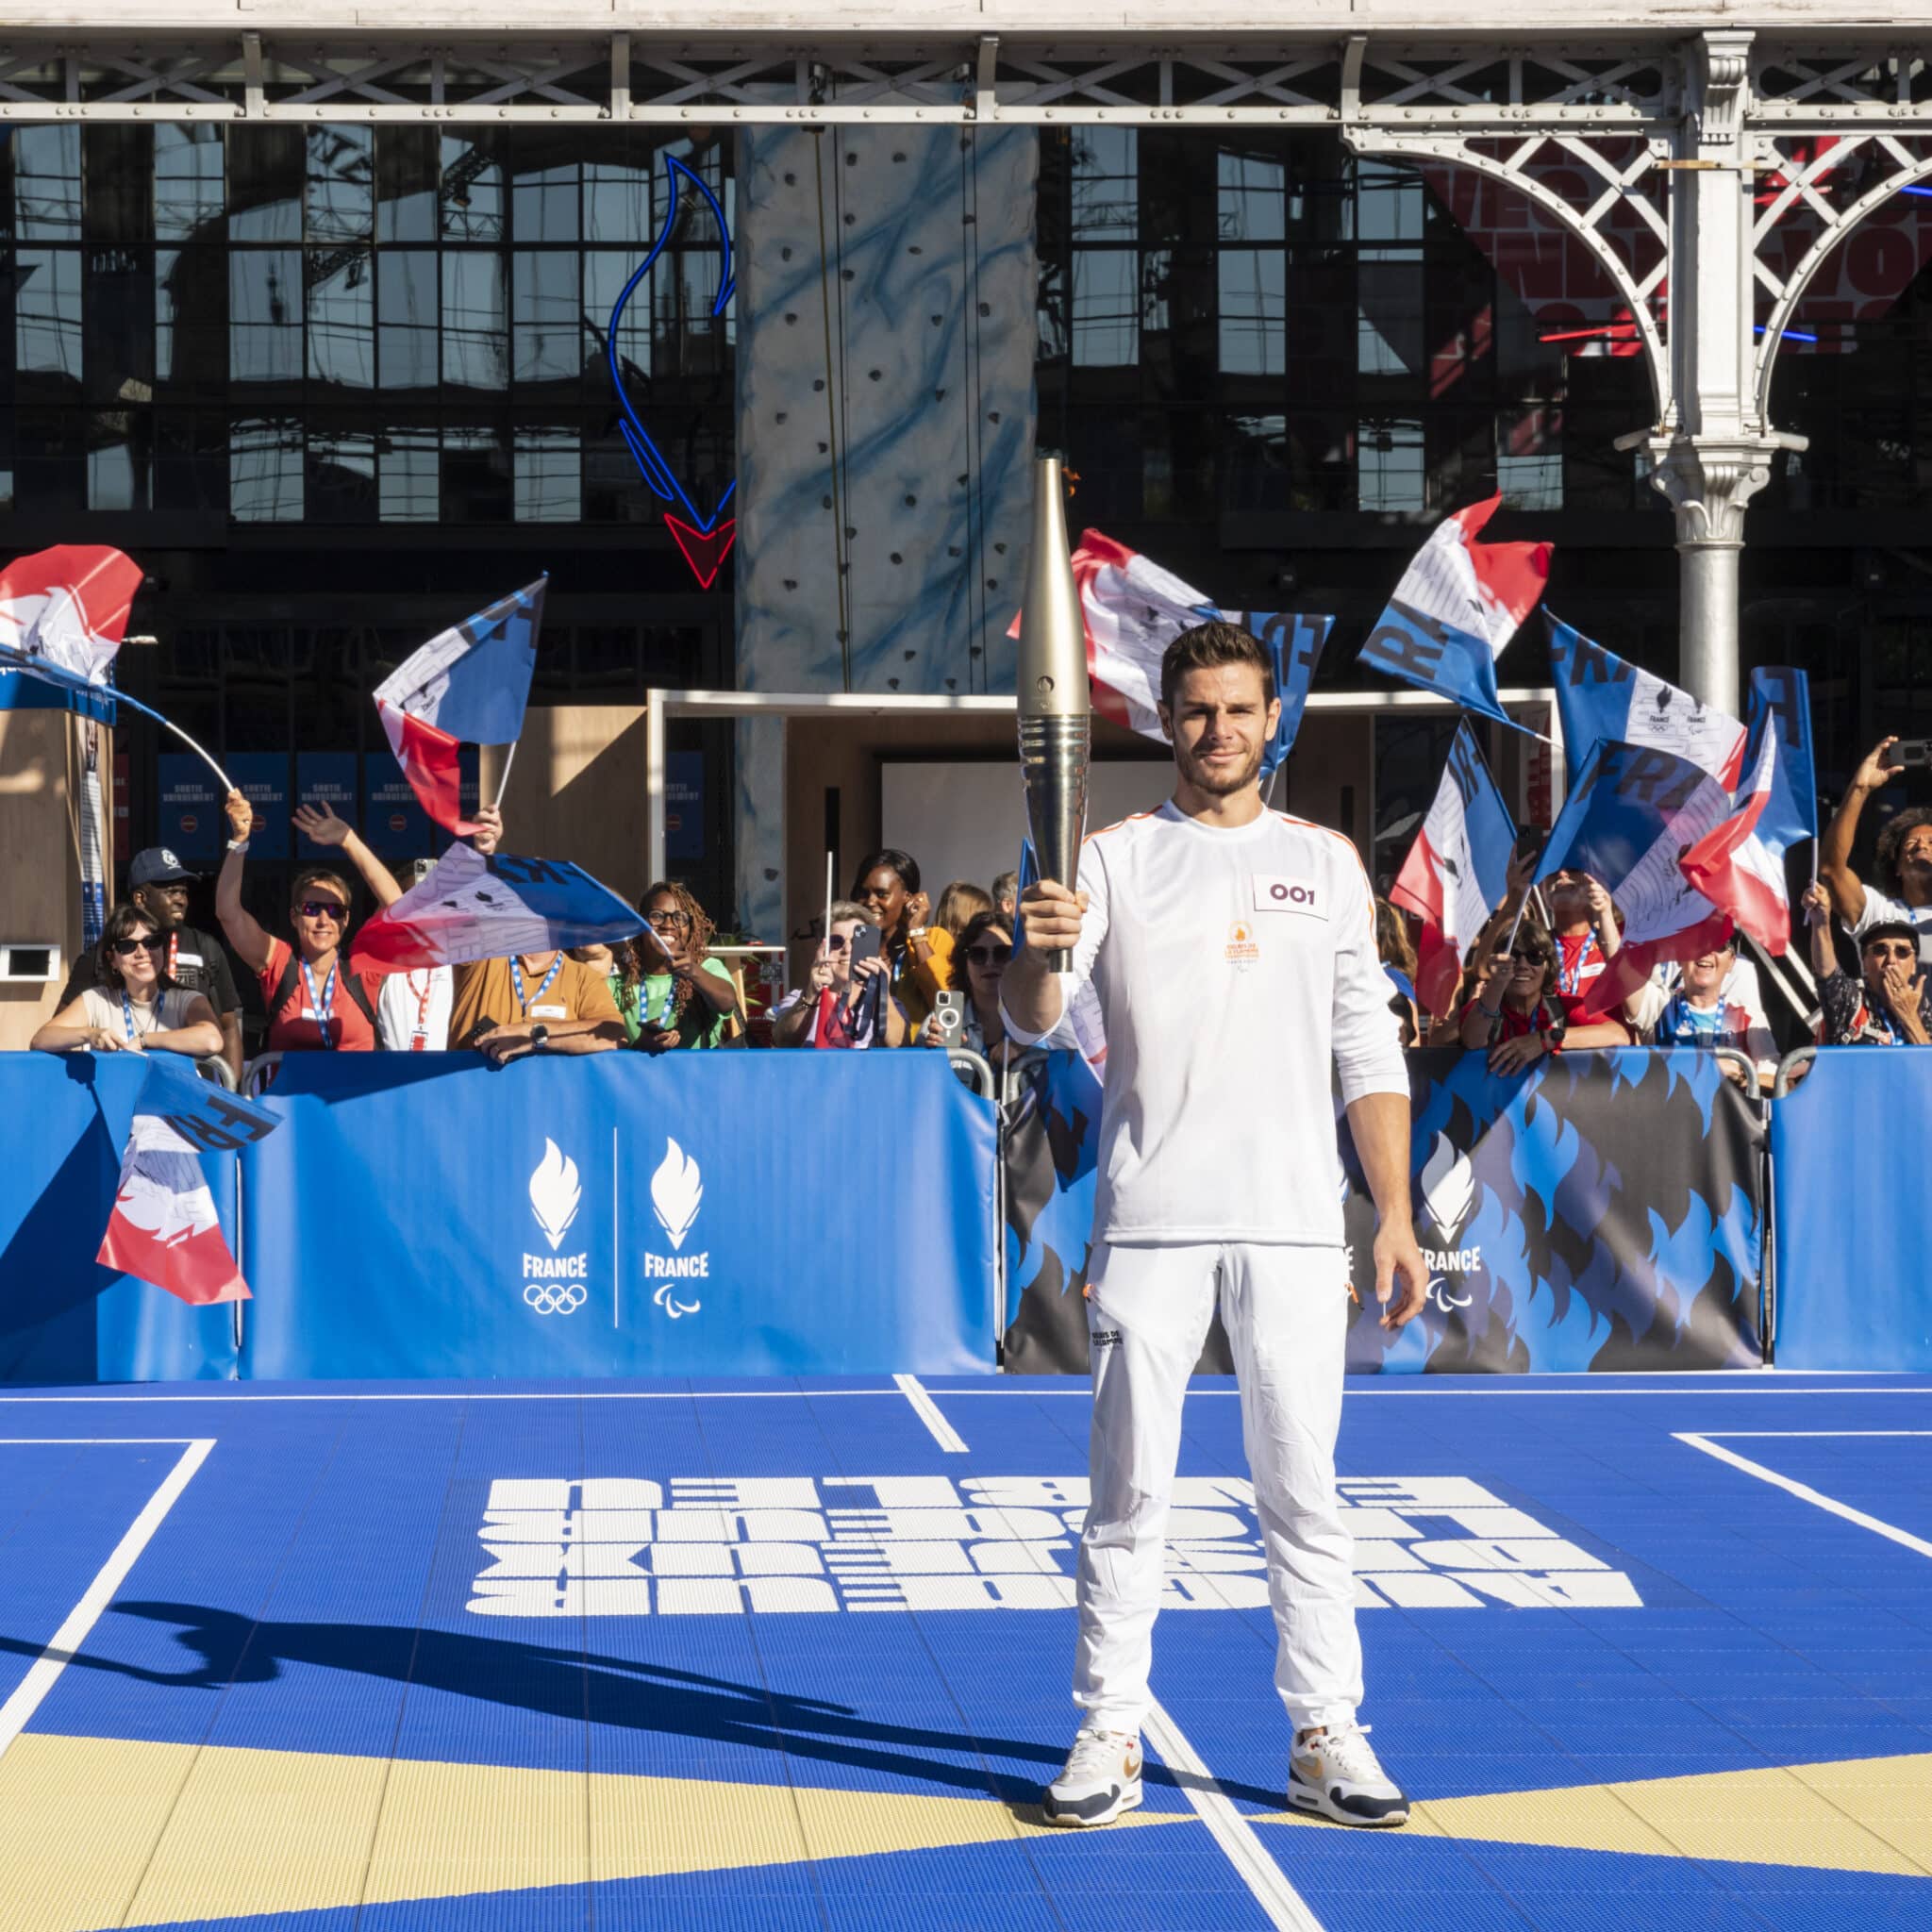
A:
[[[1820,1047],[1772,1109],[1779,1368],[1932,1368],[1932,1055]]]

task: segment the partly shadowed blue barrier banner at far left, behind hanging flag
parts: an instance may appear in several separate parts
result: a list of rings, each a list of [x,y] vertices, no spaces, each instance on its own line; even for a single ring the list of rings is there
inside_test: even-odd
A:
[[[137,1053],[0,1053],[0,1381],[236,1374],[226,1306],[185,1308],[95,1262],[147,1078]],[[236,1157],[201,1171],[236,1244]]]

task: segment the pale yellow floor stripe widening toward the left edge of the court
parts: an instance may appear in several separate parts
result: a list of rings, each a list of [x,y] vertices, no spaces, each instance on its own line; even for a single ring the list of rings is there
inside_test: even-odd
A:
[[[1053,1830],[991,1797],[39,1733],[0,1758],[0,1932],[446,1899]]]

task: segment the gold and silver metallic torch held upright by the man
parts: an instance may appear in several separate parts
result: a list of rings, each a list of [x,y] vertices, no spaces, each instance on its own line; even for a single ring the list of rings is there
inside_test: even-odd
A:
[[[1086,626],[1066,545],[1066,485],[1059,456],[1039,456],[1020,607],[1020,777],[1039,877],[1068,891],[1080,877],[1090,734]],[[1072,954],[1057,951],[1047,964],[1066,972]]]

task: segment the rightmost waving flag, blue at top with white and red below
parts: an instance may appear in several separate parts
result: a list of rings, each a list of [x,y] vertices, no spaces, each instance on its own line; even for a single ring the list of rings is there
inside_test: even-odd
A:
[[[1766,952],[1791,941],[1785,852],[1818,837],[1810,680],[1785,665],[1750,676],[1750,750],[1731,815],[1683,858],[1685,877]]]

